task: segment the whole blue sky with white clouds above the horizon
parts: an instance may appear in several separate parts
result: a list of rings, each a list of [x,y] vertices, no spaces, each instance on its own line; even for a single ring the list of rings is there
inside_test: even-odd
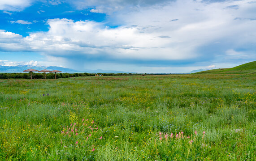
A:
[[[0,0],[0,65],[179,73],[256,60],[256,0]]]

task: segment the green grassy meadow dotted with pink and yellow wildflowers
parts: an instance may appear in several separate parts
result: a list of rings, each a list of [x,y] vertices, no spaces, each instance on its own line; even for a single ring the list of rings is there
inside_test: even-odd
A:
[[[256,74],[0,80],[0,160],[256,160]]]

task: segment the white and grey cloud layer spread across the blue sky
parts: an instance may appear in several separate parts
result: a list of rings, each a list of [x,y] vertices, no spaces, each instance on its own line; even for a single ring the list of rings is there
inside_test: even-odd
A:
[[[24,8],[30,4],[29,0],[25,2],[13,0],[9,7],[0,2],[0,9]],[[40,52],[48,58],[64,59],[63,62],[69,59],[69,63],[79,66],[100,61],[166,67],[180,62],[215,68],[212,64],[216,62],[256,59],[256,3],[250,0],[66,2],[78,9],[92,8],[91,13],[106,13],[107,19],[48,19],[47,32],[34,32],[26,37],[0,30],[0,51]]]

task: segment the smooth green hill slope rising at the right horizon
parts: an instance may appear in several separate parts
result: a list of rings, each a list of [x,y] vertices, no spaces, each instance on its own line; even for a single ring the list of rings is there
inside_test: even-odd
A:
[[[256,61],[242,64],[234,68],[219,68],[193,74],[251,74],[256,73]]]

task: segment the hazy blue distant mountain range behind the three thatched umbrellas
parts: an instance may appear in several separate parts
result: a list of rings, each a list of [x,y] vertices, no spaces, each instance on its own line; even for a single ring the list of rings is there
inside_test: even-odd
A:
[[[85,69],[85,71],[78,71],[70,68],[63,68],[63,67],[56,67],[56,66],[32,66],[32,65],[17,65],[17,66],[2,66],[0,65],[0,72],[4,73],[15,73],[15,72],[23,72],[26,69],[36,69],[36,70],[43,70],[43,69],[48,69],[48,70],[59,70],[64,73],[129,73],[129,72],[123,72],[123,71],[112,71],[112,70],[102,70],[102,69],[96,69],[96,70],[90,70],[90,69]],[[133,72],[134,73],[134,72]]]

